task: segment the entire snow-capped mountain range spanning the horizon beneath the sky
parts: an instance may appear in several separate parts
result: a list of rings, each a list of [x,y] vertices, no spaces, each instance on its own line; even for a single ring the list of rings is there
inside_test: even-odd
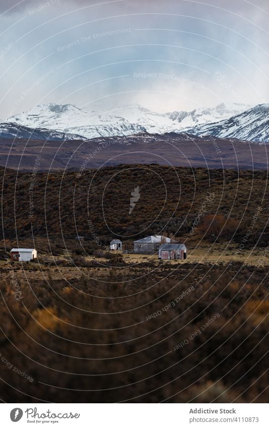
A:
[[[269,142],[269,104],[248,107],[222,103],[191,111],[156,113],[135,104],[100,113],[70,103],[48,103],[0,123],[0,137],[85,141],[147,132],[151,135],[188,133],[198,137]]]

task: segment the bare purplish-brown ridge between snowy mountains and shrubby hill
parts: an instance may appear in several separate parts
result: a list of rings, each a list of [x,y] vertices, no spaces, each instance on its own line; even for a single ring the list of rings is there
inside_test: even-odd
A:
[[[188,133],[163,135],[141,132],[92,140],[46,141],[0,138],[0,165],[33,170],[73,168],[78,178],[88,168],[119,164],[151,164],[226,169],[267,169],[266,144],[237,139],[197,137]],[[41,156],[41,158],[40,158]]]

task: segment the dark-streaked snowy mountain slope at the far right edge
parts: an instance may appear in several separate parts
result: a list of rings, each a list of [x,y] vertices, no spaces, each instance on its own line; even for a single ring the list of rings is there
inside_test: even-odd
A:
[[[254,142],[269,142],[269,104],[259,104],[217,123],[198,125],[188,130],[197,136],[238,138]]]

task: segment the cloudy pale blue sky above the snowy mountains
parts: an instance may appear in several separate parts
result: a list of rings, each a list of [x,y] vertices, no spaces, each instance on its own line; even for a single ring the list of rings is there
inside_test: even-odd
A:
[[[267,0],[1,0],[0,119],[269,102]]]

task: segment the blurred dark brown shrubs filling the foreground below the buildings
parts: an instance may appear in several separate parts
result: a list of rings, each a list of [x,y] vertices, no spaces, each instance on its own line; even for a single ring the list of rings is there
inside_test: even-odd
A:
[[[265,268],[94,272],[20,281],[20,301],[2,280],[2,357],[33,378],[2,362],[2,400],[267,402]]]

